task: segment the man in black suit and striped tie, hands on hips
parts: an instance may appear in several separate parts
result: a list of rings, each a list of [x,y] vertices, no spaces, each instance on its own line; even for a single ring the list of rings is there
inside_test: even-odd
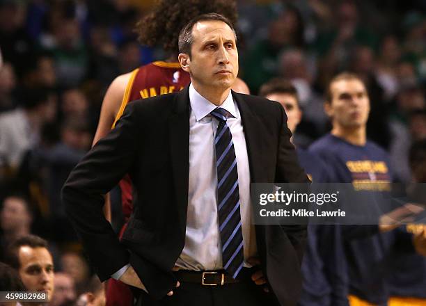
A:
[[[130,103],[63,187],[100,279],[143,289],[141,305],[295,305],[299,298],[306,226],[253,225],[250,184],[309,181],[281,105],[230,90],[235,40],[221,15],[189,22],[179,61],[191,85]],[[118,241],[102,195],[126,173],[134,212]]]

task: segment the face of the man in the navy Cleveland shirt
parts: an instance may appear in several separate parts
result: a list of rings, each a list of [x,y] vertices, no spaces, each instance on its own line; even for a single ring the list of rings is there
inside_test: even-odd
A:
[[[333,121],[333,128],[365,127],[370,113],[370,99],[364,84],[357,79],[340,80],[331,84],[331,103],[324,104]]]

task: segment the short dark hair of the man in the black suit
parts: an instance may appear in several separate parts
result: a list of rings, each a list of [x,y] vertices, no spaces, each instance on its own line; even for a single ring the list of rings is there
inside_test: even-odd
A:
[[[232,26],[232,22],[228,18],[223,15],[217,13],[207,13],[203,15],[198,15],[197,17],[191,19],[187,25],[185,25],[179,33],[179,52],[189,54],[191,56],[191,47],[194,42],[194,37],[192,36],[192,28],[194,28],[194,24],[197,22],[205,22],[216,20],[220,22],[224,22],[228,24],[232,32],[234,32],[235,40],[237,40],[237,33],[235,33],[234,26]]]

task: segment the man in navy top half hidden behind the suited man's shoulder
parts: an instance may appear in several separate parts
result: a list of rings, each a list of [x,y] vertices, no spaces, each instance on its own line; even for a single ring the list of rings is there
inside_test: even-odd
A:
[[[277,101],[283,106],[287,114],[287,126],[294,134],[302,115],[294,86],[283,79],[272,79],[260,88],[260,95]],[[330,182],[330,175],[322,159],[300,147],[297,147],[297,156],[300,165],[313,182]],[[319,245],[322,245],[322,248]],[[336,231],[336,227],[308,225],[308,245],[301,267],[303,293],[299,305],[348,305],[346,287],[338,287],[340,284],[347,283],[346,269],[342,266],[344,261],[339,261],[340,258],[338,258],[342,254],[340,248],[340,232]],[[333,263],[331,271],[324,270],[331,267],[331,264],[324,265],[324,260]],[[343,277],[345,280],[340,280],[335,286],[327,280],[327,275],[330,274],[334,275],[331,277],[331,282],[338,277]]]

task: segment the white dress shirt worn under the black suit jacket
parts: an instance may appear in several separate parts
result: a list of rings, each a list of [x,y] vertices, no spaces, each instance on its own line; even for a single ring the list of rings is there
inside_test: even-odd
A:
[[[203,271],[223,268],[219,218],[217,214],[217,169],[214,136],[219,121],[210,115],[216,105],[189,86],[189,193],[184,249],[176,266]],[[241,115],[231,93],[221,108],[230,115],[227,124],[232,134],[238,170],[238,186],[244,266],[257,253],[254,225],[251,223],[250,169]]]

